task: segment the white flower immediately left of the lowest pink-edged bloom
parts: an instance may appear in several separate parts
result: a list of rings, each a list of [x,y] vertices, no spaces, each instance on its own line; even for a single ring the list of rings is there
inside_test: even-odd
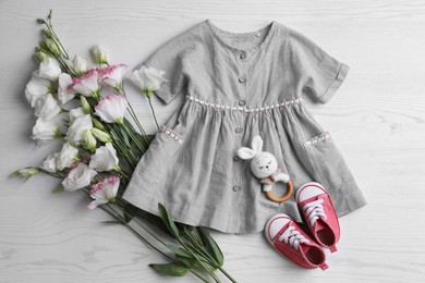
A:
[[[63,180],[62,186],[65,190],[74,192],[78,188],[88,186],[92,183],[92,179],[97,175],[97,172],[88,168],[83,162],[70,171],[68,176]]]

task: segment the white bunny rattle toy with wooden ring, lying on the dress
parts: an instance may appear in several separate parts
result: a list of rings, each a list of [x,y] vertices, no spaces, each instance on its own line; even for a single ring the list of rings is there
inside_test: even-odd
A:
[[[289,179],[289,175],[281,172],[278,168],[278,161],[275,156],[263,150],[263,139],[260,136],[254,136],[252,140],[252,149],[247,147],[241,147],[238,149],[238,156],[241,159],[251,160],[251,171],[254,175],[260,179],[263,184],[263,190],[266,193],[266,197],[275,202],[283,202],[293,194],[293,184]],[[271,193],[272,185],[276,182],[287,183],[287,193],[281,197],[277,197]]]

